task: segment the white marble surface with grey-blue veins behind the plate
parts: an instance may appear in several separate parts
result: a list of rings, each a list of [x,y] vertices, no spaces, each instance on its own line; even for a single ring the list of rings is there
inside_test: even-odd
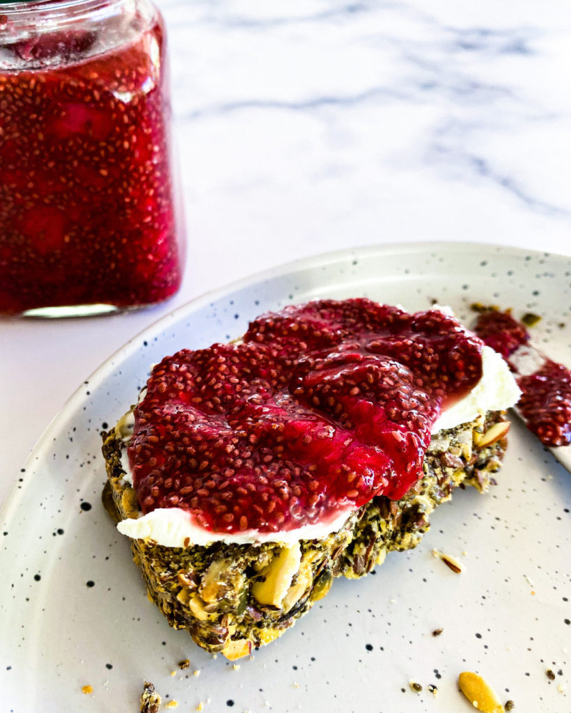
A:
[[[83,379],[207,289],[384,242],[571,255],[565,4],[159,4],[187,211],[185,282],[146,312],[0,322],[0,502]]]

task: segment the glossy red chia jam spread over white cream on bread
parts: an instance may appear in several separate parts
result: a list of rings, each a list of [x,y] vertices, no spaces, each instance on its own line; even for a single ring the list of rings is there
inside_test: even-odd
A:
[[[443,407],[478,383],[482,346],[436,310],[347,299],[263,314],[240,343],[168,356],[128,446],[143,513],[271,533],[401,498]]]

